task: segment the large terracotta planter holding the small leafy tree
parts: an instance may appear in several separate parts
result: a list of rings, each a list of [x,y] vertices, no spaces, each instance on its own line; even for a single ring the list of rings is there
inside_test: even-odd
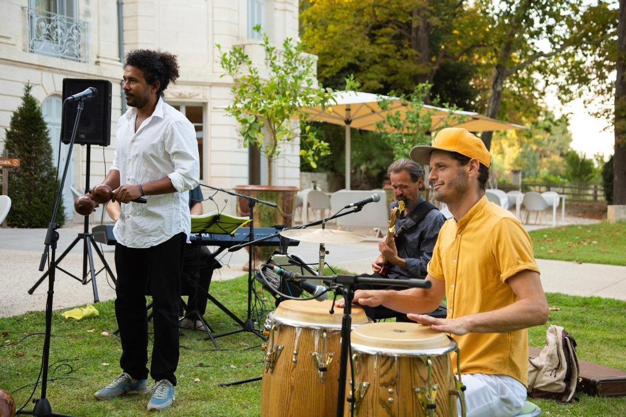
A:
[[[252,219],[254,219],[254,227],[271,227],[274,225],[290,227],[292,225],[295,196],[298,193],[297,187],[237,185],[234,190],[236,193],[259,198],[259,200],[277,203],[278,207],[275,208],[261,203],[254,205],[254,213],[252,216]],[[250,215],[248,201],[245,198],[237,198],[237,215]],[[274,252],[274,247],[255,247],[254,257],[257,265],[258,262],[265,262],[272,252]]]

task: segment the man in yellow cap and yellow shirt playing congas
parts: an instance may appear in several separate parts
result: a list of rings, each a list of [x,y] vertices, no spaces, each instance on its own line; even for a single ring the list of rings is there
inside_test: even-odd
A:
[[[428,264],[432,286],[356,291],[354,301],[408,313],[451,334],[461,350],[467,415],[515,416],[526,399],[526,329],[548,319],[530,237],[510,212],[485,197],[491,155],[472,133],[443,129],[432,146],[414,147],[410,157],[430,165],[435,197],[454,216],[441,228]],[[446,319],[424,315],[443,296]]]

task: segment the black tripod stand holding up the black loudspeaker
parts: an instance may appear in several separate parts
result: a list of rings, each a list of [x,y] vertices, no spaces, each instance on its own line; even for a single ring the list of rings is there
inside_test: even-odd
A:
[[[71,152],[71,148],[70,148],[70,152]],[[90,185],[89,185],[90,167],[91,167],[91,145],[87,145],[87,168],[85,172],[85,178],[86,178],[85,193],[88,193],[90,191]],[[115,279],[115,275],[113,274],[113,271],[111,270],[111,267],[109,266],[108,262],[106,262],[105,256],[102,254],[100,248],[96,244],[95,239],[93,239],[93,234],[91,234],[91,232],[89,231],[89,216],[85,216],[85,222],[83,224],[84,224],[83,233],[79,233],[76,239],[74,239],[74,241],[71,244],[69,244],[68,248],[63,251],[63,254],[61,254],[61,256],[59,256],[59,259],[56,260],[54,267],[65,272],[70,277],[76,279],[76,281],[80,281],[81,284],[83,284],[84,286],[88,284],[88,282],[91,281],[91,286],[93,287],[93,302],[99,302],[100,298],[98,297],[98,286],[96,284],[96,275],[100,274],[100,272],[102,272],[103,269],[106,269],[106,271],[111,275],[111,279],[113,279],[113,284],[117,284],[117,281]],[[69,251],[72,250],[74,246],[76,246],[76,244],[80,242],[81,240],[83,240],[83,279],[80,279],[76,275],[71,274],[68,270],[65,270],[59,267],[59,263],[61,263],[61,260],[63,260],[65,255],[69,254]],[[98,272],[96,272],[94,262],[93,262],[93,252],[91,252],[92,246],[93,246],[93,249],[96,251],[96,254],[98,254],[98,257],[100,257],[100,261],[104,265]],[[89,271],[87,270],[87,265],[89,265]],[[49,274],[50,274],[50,270],[48,269],[46,270],[46,272],[44,272],[43,275],[41,275],[41,278],[39,278],[39,280],[35,282],[35,284],[31,287],[31,289],[28,290],[28,294],[33,294],[33,292],[37,289],[39,284],[41,284],[41,282],[43,282],[44,279],[46,279],[46,277]],[[91,275],[90,279],[87,279],[88,274]]]

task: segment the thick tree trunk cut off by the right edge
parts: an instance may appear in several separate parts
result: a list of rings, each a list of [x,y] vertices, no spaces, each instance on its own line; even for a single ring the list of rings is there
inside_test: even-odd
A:
[[[626,78],[624,77],[624,71],[626,71],[626,0],[620,0],[616,69],[613,204],[626,204]]]

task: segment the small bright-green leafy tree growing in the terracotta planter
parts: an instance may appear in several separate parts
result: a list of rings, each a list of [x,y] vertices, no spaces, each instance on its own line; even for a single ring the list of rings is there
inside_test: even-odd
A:
[[[259,31],[257,26],[255,30]],[[272,45],[263,34],[265,68],[255,66],[244,48],[233,46],[222,52],[220,64],[225,74],[232,77],[233,101],[226,111],[239,123],[244,147],[255,146],[267,158],[269,185],[272,185],[272,162],[279,157],[282,146],[300,138],[300,156],[315,168],[319,157],[329,154],[328,144],[319,140],[309,126],[300,131],[293,120],[300,122],[307,115],[298,110],[304,106],[326,106],[332,100],[332,90],[317,86],[315,61],[304,53],[304,43],[287,38],[282,48]],[[267,137],[266,137],[267,133]]]

